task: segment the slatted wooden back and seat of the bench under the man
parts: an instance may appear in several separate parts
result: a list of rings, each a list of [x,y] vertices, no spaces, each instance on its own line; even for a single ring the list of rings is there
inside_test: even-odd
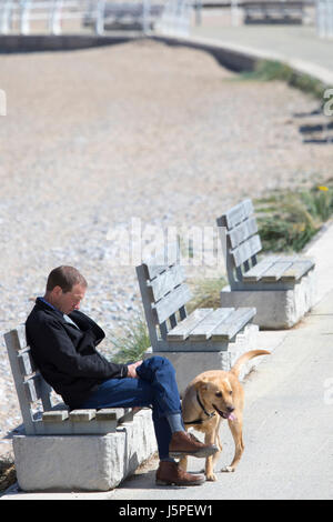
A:
[[[64,403],[53,404],[52,389],[27,345],[24,324],[6,333],[4,341],[27,435],[107,434],[133,419],[129,409],[69,411]]]

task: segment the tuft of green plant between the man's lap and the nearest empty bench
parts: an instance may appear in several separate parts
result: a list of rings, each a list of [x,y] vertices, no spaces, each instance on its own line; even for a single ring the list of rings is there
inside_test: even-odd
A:
[[[118,350],[115,355],[112,357],[112,361],[117,363],[125,364],[140,361],[150,347],[147,323],[142,317],[138,317],[127,330],[127,335],[111,340],[113,347]]]

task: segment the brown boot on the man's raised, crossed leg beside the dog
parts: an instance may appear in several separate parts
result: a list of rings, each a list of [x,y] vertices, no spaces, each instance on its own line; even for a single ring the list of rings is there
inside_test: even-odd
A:
[[[206,458],[213,455],[216,451],[219,451],[219,449],[215,444],[203,444],[185,431],[172,433],[169,444],[169,454],[173,458],[183,455]]]

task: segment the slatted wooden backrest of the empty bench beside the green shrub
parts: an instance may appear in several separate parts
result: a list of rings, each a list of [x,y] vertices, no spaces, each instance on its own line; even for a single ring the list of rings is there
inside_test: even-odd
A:
[[[262,250],[251,199],[243,200],[216,219],[222,232],[222,248],[231,289],[243,280],[243,273],[258,263]]]

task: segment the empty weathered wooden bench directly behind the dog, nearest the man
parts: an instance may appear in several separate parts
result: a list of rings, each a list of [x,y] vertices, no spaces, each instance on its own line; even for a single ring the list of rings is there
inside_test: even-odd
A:
[[[192,293],[176,245],[137,267],[137,274],[151,342],[144,358],[160,355],[172,362],[181,396],[199,373],[228,371],[239,355],[256,348],[253,307],[196,309],[188,314]]]

